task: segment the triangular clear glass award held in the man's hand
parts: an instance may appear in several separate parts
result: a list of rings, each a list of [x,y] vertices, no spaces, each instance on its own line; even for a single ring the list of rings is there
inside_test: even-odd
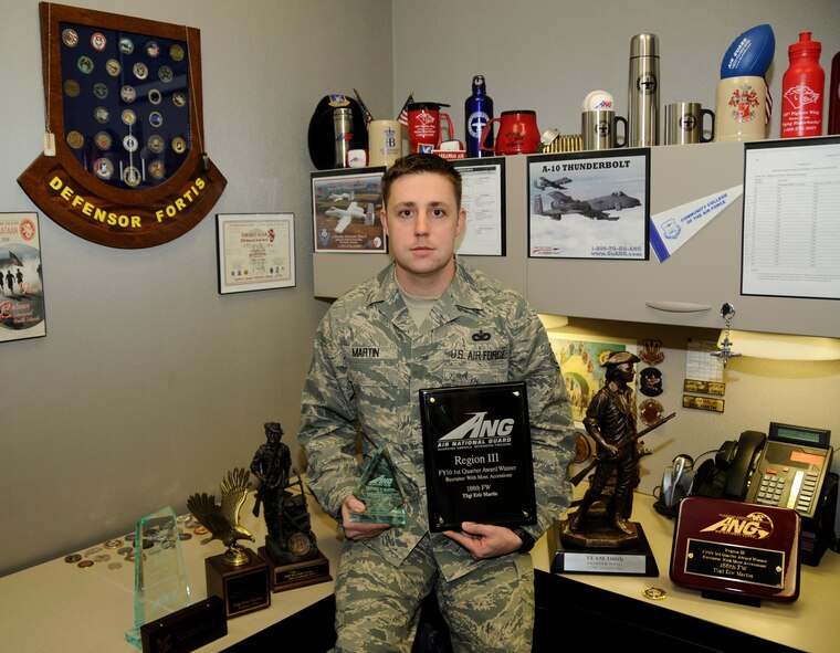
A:
[[[350,513],[350,522],[406,525],[406,493],[385,443],[374,452],[359,478],[355,495],[365,504],[365,512]]]

